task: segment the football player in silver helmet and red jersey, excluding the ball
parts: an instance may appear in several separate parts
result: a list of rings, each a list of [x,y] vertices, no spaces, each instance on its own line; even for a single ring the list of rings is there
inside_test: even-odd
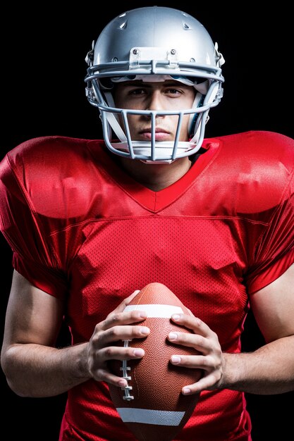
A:
[[[294,389],[294,141],[204,137],[224,59],[182,11],[122,13],[86,60],[104,139],[29,139],[1,162],[8,384],[23,397],[68,392],[59,441],[134,440],[109,395],[125,379],[108,361],[144,356],[115,343],[148,335],[145,311],[123,309],[161,282],[192,312],[172,320],[194,332],[166,337],[200,352],[175,350],[171,364],[204,373],[180,392],[200,400],[176,439],[250,441],[245,392]],[[242,353],[249,308],[265,344]],[[63,320],[72,344],[56,348]]]

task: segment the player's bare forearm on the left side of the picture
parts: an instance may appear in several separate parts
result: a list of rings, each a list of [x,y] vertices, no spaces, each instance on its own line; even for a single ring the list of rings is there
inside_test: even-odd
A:
[[[13,344],[1,356],[8,385],[22,397],[59,395],[90,378],[87,343],[56,349]]]

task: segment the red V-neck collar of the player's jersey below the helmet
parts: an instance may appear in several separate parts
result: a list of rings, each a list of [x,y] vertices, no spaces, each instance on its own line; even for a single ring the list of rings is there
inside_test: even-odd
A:
[[[97,144],[96,144],[97,146]],[[96,147],[95,146],[95,147]],[[95,152],[92,151],[92,146],[89,148],[95,156],[99,156],[99,163],[103,166],[104,171],[109,175],[112,180],[115,180],[117,185],[126,192],[132,199],[137,201],[138,204],[143,206],[148,211],[158,212],[166,208],[178,199],[182,194],[184,194],[190,185],[197,179],[197,176],[202,173],[202,171],[207,167],[209,162],[212,160],[216,151],[219,147],[218,139],[207,139],[202,147],[206,150],[205,153],[201,154],[197,161],[192,164],[190,169],[185,175],[182,176],[176,182],[169,185],[169,187],[164,188],[155,192],[149,188],[142,185],[133,179],[128,173],[121,168],[116,161],[111,157],[108,151],[103,148],[97,151],[94,147]],[[98,159],[98,158],[97,158]]]

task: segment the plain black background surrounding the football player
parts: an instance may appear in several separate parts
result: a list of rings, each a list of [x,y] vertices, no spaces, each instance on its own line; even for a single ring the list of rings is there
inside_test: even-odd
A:
[[[293,21],[290,4],[255,9],[257,2],[125,1],[39,3],[5,6],[1,11],[0,159],[20,142],[43,135],[102,137],[95,108],[85,98],[85,56],[103,27],[118,13],[139,6],[171,6],[194,15],[219,43],[226,63],[224,96],[210,112],[206,136],[246,130],[272,130],[294,137]],[[42,5],[42,8],[41,8]],[[232,6],[233,5],[233,6]],[[238,5],[238,6],[234,6]],[[143,30],[142,30],[143,32]],[[228,158],[228,161],[230,159]],[[11,250],[0,235],[1,333],[11,284]],[[61,342],[66,333],[61,335]],[[250,351],[263,339],[251,314],[243,347]],[[278,364],[278,360],[276,361]],[[66,395],[20,398],[1,373],[6,439],[57,441]],[[253,441],[293,435],[294,392],[275,396],[247,394]],[[37,427],[39,426],[39,429]]]

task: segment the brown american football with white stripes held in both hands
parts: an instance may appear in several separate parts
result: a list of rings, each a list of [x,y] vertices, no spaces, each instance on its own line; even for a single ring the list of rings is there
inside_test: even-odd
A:
[[[128,380],[128,386],[109,385],[111,399],[123,422],[138,441],[170,441],[185,426],[200,395],[185,396],[182,387],[197,382],[200,369],[173,366],[173,354],[197,354],[189,347],[171,344],[171,331],[192,333],[171,321],[173,313],[190,313],[165,285],[152,282],[146,285],[126,306],[125,311],[147,311],[143,322],[150,328],[144,339],[121,344],[145,349],[139,360],[111,361],[111,370]]]

